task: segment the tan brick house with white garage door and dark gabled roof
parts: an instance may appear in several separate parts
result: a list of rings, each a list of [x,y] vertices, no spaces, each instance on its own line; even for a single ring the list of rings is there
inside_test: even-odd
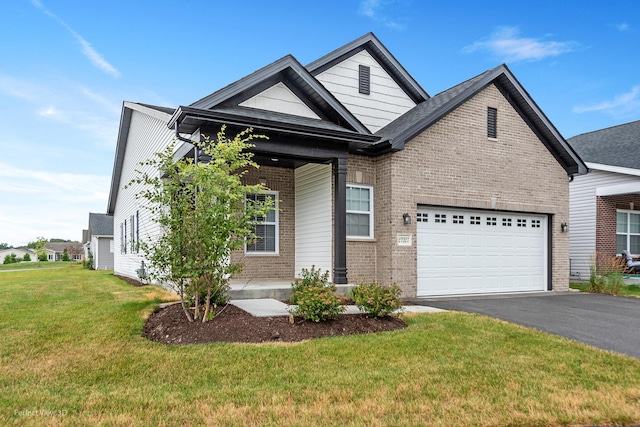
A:
[[[417,54],[417,49],[416,49]],[[277,210],[235,280],[397,283],[405,297],[566,290],[569,180],[587,168],[506,65],[430,96],[372,33],[307,66],[287,55],[188,106],[125,102],[107,214],[115,272],[158,230],[124,188],[174,139],[253,127]],[[141,169],[143,170],[143,169]],[[150,171],[154,172],[155,171]],[[251,195],[248,195],[251,197]],[[266,282],[265,282],[266,283]]]

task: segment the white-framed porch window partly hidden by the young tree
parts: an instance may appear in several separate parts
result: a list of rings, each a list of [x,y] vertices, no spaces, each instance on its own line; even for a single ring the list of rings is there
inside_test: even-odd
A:
[[[265,216],[254,217],[253,232],[256,239],[247,242],[245,251],[248,254],[278,253],[278,193],[267,191],[263,194],[246,195],[246,203],[264,203],[267,199],[273,200],[273,209]]]

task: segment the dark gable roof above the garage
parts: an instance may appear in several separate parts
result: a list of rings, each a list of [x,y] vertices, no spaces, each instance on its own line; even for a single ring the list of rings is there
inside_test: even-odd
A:
[[[388,140],[391,149],[401,150],[408,140],[426,130],[490,84],[495,84],[505,95],[505,98],[568,174],[587,173],[587,167],[578,154],[540,110],[505,64],[487,70],[418,104],[380,129],[376,135]]]

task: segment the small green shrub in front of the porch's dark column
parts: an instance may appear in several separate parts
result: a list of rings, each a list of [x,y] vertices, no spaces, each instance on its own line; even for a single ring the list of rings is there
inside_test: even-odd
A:
[[[335,319],[346,310],[340,298],[334,294],[335,290],[336,287],[333,284],[301,287],[296,291],[298,305],[290,311],[313,322]]]

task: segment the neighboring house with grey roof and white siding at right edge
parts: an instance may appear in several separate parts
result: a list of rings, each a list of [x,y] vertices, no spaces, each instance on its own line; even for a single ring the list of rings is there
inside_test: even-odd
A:
[[[596,255],[640,256],[640,121],[568,142],[589,168],[569,185],[571,275],[585,279]]]

